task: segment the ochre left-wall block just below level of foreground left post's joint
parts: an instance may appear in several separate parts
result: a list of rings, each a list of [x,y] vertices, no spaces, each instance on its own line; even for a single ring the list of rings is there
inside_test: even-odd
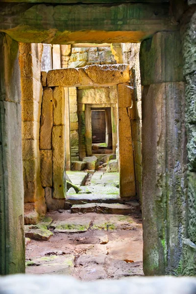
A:
[[[40,122],[41,103],[37,101],[22,102],[22,121]]]

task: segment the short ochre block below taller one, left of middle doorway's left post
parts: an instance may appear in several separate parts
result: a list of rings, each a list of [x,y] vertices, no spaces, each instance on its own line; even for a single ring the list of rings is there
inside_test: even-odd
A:
[[[52,187],[52,150],[40,150],[40,180],[42,187]]]

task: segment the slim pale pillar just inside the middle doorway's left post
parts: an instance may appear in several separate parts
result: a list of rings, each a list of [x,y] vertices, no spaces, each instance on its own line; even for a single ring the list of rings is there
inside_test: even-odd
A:
[[[70,145],[70,109],[69,109],[69,88],[65,91],[65,150],[66,150],[66,171],[71,170],[71,145]]]

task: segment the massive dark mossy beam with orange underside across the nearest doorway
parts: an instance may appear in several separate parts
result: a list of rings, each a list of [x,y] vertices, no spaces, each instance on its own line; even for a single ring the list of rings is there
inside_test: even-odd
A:
[[[169,3],[0,3],[0,31],[23,43],[137,43],[178,28]]]

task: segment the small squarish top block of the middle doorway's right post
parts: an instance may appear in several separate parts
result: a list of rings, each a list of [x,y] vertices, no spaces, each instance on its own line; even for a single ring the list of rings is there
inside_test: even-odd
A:
[[[118,107],[131,107],[132,99],[134,99],[134,92],[128,88],[129,83],[117,85]]]

